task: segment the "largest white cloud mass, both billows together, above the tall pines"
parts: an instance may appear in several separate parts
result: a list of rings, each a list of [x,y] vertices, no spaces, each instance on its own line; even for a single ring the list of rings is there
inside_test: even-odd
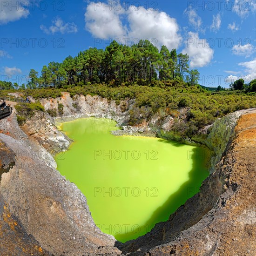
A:
[[[94,37],[119,39],[122,43],[148,39],[158,47],[165,45],[169,49],[179,47],[182,42],[176,20],[165,12],[135,6],[117,10],[104,8],[104,3],[97,2],[100,4],[101,8],[88,4],[85,13],[85,27]],[[123,17],[127,18],[127,26],[122,23]]]

